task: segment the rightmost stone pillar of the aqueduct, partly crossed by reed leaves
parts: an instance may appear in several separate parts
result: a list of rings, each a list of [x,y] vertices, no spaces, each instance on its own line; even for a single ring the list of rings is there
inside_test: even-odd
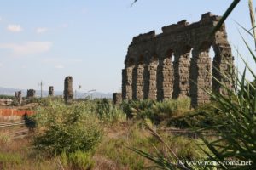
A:
[[[212,68],[212,92],[228,95],[224,88],[221,88],[219,82],[232,89],[232,80],[234,80],[234,64],[229,44],[213,45],[215,57],[213,58]],[[216,81],[215,78],[218,79]],[[227,78],[228,77],[228,78]],[[230,79],[230,80],[229,80]]]

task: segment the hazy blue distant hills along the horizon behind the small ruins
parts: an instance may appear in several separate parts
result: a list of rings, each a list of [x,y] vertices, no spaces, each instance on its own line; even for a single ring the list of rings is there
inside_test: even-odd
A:
[[[14,96],[16,91],[21,91],[22,96],[26,97],[26,89],[0,87],[0,95]],[[42,94],[43,94],[43,97],[47,97],[48,96],[48,91],[43,91]],[[36,90],[36,96],[39,97],[40,95],[41,95],[40,90]],[[58,96],[63,95],[63,92],[55,91],[55,95],[58,95]],[[109,99],[112,99],[112,94],[111,93],[105,94],[105,93],[102,93],[102,92],[91,92],[91,93],[78,92],[78,93],[76,93],[76,96],[75,96],[75,98],[77,98],[77,99],[85,98],[85,97],[91,97],[93,99],[95,99],[95,98],[109,98]]]

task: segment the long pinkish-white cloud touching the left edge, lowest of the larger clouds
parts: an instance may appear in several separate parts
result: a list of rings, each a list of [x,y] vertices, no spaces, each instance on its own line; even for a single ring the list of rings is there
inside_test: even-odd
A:
[[[15,56],[40,54],[49,51],[52,42],[0,43],[0,48],[10,49]]]

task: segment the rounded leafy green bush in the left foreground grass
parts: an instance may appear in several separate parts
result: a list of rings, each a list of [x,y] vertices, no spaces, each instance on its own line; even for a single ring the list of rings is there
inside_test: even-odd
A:
[[[34,116],[38,127],[34,145],[49,155],[78,150],[93,150],[102,139],[102,129],[95,116],[90,115],[90,105],[86,103],[64,105],[53,102],[48,107],[39,108]]]

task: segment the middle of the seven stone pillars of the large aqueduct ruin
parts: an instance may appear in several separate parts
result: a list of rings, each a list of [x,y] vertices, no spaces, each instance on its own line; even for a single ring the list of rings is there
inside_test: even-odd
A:
[[[157,99],[172,98],[173,67],[171,58],[160,59],[157,67]]]

